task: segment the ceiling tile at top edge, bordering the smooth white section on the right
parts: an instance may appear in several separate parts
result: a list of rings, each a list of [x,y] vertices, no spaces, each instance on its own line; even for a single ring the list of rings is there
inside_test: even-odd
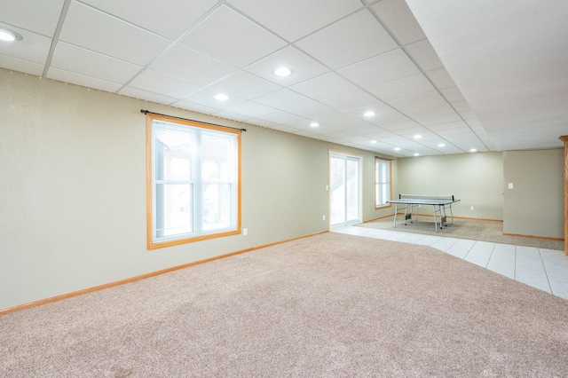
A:
[[[400,43],[413,43],[426,38],[405,1],[383,0],[373,5],[373,9],[387,28],[397,35]]]

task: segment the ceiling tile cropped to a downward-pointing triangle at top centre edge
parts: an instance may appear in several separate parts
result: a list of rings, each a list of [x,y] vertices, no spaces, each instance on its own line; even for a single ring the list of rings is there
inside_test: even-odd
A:
[[[362,6],[359,0],[228,0],[228,4],[290,42]]]

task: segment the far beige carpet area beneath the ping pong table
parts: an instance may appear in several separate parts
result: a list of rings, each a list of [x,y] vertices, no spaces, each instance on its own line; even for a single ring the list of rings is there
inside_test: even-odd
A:
[[[448,222],[449,221],[450,218],[448,217]],[[418,222],[405,225],[404,215],[401,215],[397,217],[396,228],[394,228],[393,217],[386,217],[357,225],[380,230],[413,232],[447,238],[482,240],[516,246],[564,250],[564,240],[503,235],[503,223],[497,221],[454,218],[454,224],[448,223],[447,227],[438,230],[438,232],[435,232],[433,217],[426,216],[419,216]]]

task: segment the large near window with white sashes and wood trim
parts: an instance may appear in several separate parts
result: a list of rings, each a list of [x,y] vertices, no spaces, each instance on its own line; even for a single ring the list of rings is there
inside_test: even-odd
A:
[[[240,232],[240,130],[146,115],[148,248]]]

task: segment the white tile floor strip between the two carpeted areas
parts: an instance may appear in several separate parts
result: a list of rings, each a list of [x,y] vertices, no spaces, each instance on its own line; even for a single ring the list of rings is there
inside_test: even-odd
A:
[[[438,248],[510,279],[568,300],[568,258],[555,249],[345,226],[332,232]]]

